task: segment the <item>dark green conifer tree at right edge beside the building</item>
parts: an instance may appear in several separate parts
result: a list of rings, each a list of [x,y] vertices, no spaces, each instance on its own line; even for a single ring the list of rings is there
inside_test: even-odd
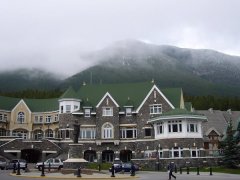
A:
[[[223,164],[228,168],[237,168],[240,163],[240,147],[237,138],[234,137],[232,120],[230,119],[226,136],[222,142]]]

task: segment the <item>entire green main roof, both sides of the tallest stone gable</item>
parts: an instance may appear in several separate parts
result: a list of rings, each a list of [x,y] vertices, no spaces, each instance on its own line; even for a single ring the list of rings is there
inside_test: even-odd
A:
[[[137,108],[150,92],[153,85],[151,82],[85,85],[79,89],[77,97],[83,101],[84,106],[86,106],[86,99],[88,99],[88,103],[95,107],[108,92],[120,108],[123,106],[134,106]],[[160,91],[174,107],[180,107],[181,88],[160,89]]]

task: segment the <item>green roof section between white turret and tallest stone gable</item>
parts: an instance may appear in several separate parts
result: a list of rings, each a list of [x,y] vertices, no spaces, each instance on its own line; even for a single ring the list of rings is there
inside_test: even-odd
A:
[[[129,99],[133,103],[132,106],[138,107],[152,87],[153,84],[150,82],[85,85],[79,89],[78,97],[82,100],[88,98],[95,107],[108,92],[120,107],[125,106]]]

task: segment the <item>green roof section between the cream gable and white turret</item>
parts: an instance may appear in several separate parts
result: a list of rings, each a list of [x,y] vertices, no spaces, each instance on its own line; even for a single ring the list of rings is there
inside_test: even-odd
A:
[[[59,109],[58,99],[23,99],[32,112],[49,112]]]

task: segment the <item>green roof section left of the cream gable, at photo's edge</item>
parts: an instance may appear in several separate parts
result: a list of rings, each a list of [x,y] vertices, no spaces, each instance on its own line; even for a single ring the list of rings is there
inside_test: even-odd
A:
[[[0,109],[11,111],[20,100],[20,98],[0,96]]]

